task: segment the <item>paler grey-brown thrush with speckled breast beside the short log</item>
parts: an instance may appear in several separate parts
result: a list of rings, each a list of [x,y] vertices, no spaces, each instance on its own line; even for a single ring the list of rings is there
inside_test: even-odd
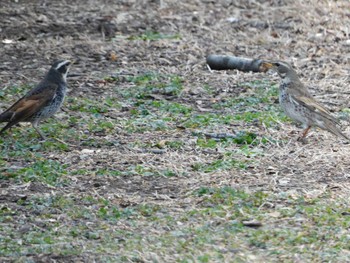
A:
[[[299,141],[304,141],[312,126],[317,126],[349,140],[337,127],[339,121],[331,115],[328,109],[313,98],[289,63],[263,61],[260,67],[262,71],[272,69],[281,77],[282,81],[279,87],[280,106],[287,116],[304,125],[304,130],[298,138]]]

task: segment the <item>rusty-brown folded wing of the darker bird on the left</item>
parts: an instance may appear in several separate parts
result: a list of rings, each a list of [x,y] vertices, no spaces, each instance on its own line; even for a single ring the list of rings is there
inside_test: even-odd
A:
[[[53,100],[56,90],[57,85],[51,85],[40,93],[22,97],[0,114],[0,122],[9,122],[10,126],[13,126],[21,121],[25,121]]]

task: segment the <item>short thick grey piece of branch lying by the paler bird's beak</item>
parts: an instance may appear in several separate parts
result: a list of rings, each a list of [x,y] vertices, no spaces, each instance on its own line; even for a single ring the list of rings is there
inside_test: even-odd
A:
[[[250,59],[234,56],[209,55],[207,64],[210,69],[227,70],[237,69],[244,72],[266,72],[268,69],[261,67],[262,59]]]

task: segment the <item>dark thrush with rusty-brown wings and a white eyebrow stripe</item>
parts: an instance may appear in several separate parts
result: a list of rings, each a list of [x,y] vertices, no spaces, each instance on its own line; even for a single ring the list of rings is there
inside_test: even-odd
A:
[[[7,124],[0,130],[0,135],[20,122],[30,122],[41,139],[46,140],[38,124],[52,117],[61,107],[67,93],[67,74],[71,64],[70,60],[55,61],[36,87],[1,113],[0,122]]]

